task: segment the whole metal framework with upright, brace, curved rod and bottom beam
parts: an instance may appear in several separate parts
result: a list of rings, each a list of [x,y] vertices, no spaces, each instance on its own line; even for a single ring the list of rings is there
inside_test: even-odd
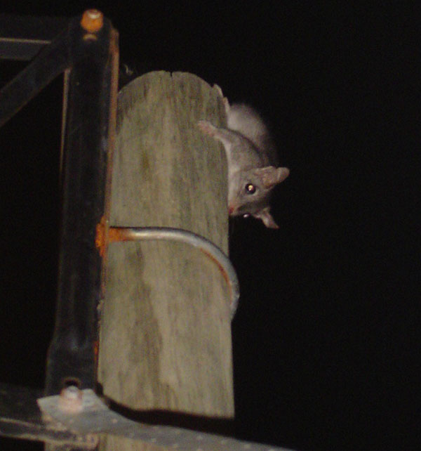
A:
[[[40,27],[40,23],[48,22],[55,28],[63,20],[27,18],[26,21],[9,16],[8,36],[0,37],[0,58],[29,59],[45,46],[25,70],[1,89],[0,126],[58,74],[65,72],[58,299],[44,393],[52,396],[41,398],[39,390],[0,383],[0,436],[41,440],[58,445],[58,450],[74,451],[95,447],[98,433],[192,451],[199,442],[206,449],[243,450],[247,447],[256,451],[283,451],[208,433],[131,421],[110,410],[89,390],[95,388],[98,339],[95,312],[103,296],[108,232],[126,234],[126,239],[138,239],[138,235],[145,232],[122,228],[108,230],[119,52],[116,31],[100,13],[98,20],[98,13],[86,11],[82,17],[66,20],[65,30],[48,46],[50,31]],[[0,25],[4,20],[0,15]],[[238,282],[219,249],[182,230],[149,229],[147,233],[147,239],[168,237],[198,246],[225,270],[232,285],[234,310]],[[63,405],[60,407],[60,400],[69,401],[66,393],[75,393],[71,390],[74,387],[70,387],[57,396],[66,382],[83,389],[76,389],[78,398],[73,399],[76,405],[79,401],[86,404],[76,416]]]

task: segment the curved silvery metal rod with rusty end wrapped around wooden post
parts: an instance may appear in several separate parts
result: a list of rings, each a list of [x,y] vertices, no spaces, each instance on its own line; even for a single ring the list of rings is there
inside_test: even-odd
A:
[[[234,318],[240,296],[239,280],[231,261],[213,242],[189,230],[169,227],[110,227],[109,236],[110,241],[168,240],[184,242],[196,247],[218,265],[227,280],[231,291],[231,319]]]

